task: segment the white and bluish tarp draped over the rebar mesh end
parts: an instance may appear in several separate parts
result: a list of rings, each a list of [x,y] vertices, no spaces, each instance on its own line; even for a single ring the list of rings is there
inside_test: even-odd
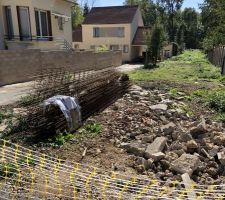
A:
[[[58,106],[63,112],[70,131],[79,127],[81,124],[81,107],[76,98],[58,95],[47,99],[44,101],[44,112],[46,112],[51,105]]]

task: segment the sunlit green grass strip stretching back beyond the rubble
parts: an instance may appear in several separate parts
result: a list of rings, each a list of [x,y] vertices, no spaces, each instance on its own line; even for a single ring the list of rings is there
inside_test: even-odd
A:
[[[221,79],[220,69],[213,66],[200,50],[188,50],[159,64],[153,70],[140,69],[129,73],[132,80],[150,81],[217,81]],[[221,79],[224,80],[224,79]]]

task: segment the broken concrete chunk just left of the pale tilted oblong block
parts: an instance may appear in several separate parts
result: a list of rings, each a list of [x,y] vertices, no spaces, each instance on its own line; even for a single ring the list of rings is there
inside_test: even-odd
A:
[[[135,156],[143,157],[145,154],[146,147],[141,143],[122,143],[120,146],[126,149],[128,153],[134,154]]]

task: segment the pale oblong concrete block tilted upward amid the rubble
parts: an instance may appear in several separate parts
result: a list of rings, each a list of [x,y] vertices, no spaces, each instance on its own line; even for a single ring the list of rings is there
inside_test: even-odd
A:
[[[164,149],[166,142],[167,142],[166,137],[157,137],[153,141],[153,143],[148,145],[148,147],[145,151],[145,156],[147,158],[151,158],[151,155],[161,152]]]

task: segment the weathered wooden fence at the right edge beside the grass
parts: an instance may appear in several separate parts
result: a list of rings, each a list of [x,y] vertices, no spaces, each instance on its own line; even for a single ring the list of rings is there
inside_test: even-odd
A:
[[[225,74],[225,46],[217,47],[208,52],[208,59],[214,65],[221,67],[221,73]]]

